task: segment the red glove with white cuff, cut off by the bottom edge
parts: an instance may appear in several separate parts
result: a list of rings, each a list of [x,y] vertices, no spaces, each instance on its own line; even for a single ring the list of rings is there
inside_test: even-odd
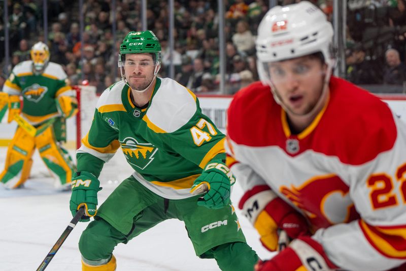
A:
[[[299,237],[274,258],[258,261],[255,271],[333,271],[335,266],[323,251],[323,247],[309,236]]]

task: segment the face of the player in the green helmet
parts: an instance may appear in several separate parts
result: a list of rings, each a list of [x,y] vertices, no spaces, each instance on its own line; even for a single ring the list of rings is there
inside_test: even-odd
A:
[[[125,79],[132,89],[142,91],[154,79],[155,62],[149,53],[126,54]]]

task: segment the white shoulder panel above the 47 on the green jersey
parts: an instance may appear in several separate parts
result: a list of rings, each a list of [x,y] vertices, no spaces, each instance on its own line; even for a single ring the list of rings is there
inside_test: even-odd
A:
[[[172,133],[185,125],[196,109],[194,94],[175,80],[163,78],[147,110],[147,117],[156,127]]]

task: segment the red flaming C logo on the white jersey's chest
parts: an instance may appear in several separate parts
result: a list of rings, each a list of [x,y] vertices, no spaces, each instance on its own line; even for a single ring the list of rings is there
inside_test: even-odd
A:
[[[299,187],[280,187],[280,192],[308,217],[313,230],[359,218],[348,186],[337,175],[317,176]]]

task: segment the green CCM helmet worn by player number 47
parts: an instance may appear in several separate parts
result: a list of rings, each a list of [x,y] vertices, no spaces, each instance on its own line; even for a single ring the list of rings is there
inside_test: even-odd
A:
[[[154,65],[154,74],[152,81],[150,84],[144,89],[134,89],[137,92],[145,92],[148,87],[154,81],[153,79],[156,77],[160,69],[160,60],[161,60],[161,45],[159,44],[158,38],[152,31],[141,31],[129,32],[123,42],[120,45],[120,52],[118,54],[118,67],[120,68],[121,72],[121,79],[128,85],[127,79],[125,78],[125,70],[124,67],[131,65],[137,65],[136,63],[126,63],[125,62],[125,55],[126,54],[136,54],[136,53],[150,53],[152,54],[153,58],[153,65]]]

